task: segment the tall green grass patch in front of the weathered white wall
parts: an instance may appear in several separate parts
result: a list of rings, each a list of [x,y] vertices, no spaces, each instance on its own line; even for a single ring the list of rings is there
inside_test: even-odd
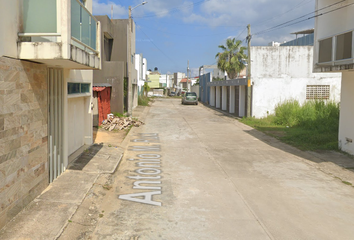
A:
[[[339,106],[334,102],[286,101],[274,115],[240,121],[301,150],[338,150]]]

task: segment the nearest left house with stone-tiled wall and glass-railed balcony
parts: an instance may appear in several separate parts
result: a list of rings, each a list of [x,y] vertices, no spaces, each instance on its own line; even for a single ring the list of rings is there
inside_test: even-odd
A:
[[[92,0],[1,1],[0,227],[92,144]]]

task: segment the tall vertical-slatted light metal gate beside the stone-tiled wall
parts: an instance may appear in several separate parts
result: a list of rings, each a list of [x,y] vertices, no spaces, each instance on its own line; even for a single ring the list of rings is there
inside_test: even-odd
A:
[[[63,70],[48,69],[49,181],[64,171],[63,160]]]

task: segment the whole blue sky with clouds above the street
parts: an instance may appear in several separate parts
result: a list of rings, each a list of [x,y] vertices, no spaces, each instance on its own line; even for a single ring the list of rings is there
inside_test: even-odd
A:
[[[129,6],[143,0],[93,0],[93,15],[127,19]],[[132,10],[136,24],[136,53],[147,59],[148,69],[162,74],[198,75],[202,65],[216,64],[215,55],[227,38],[247,46],[251,25],[252,46],[295,39],[293,32],[314,28],[309,19],[315,0],[147,0]],[[310,14],[310,15],[307,15]],[[305,16],[306,15],[306,16]],[[294,21],[293,21],[294,20]],[[280,25],[280,26],[279,26]]]

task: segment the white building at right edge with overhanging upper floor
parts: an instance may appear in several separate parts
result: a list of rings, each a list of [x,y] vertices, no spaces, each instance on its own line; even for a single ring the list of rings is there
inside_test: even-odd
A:
[[[339,148],[354,154],[354,7],[351,1],[316,0],[314,69],[342,73]],[[328,7],[331,6],[331,7]],[[330,13],[326,13],[330,12]]]

